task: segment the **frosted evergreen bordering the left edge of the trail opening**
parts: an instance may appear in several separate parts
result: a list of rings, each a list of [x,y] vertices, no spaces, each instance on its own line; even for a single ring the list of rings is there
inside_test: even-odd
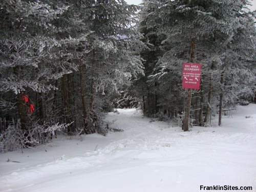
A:
[[[93,1],[89,4],[87,22],[92,33],[88,36],[89,51],[84,56],[84,66],[81,66],[87,68],[84,70],[87,82],[84,86],[90,90],[90,96],[83,100],[84,133],[100,132],[102,103],[95,102],[102,98],[99,94],[117,92],[117,85],[127,80],[127,73],[136,77],[143,72],[141,58],[136,55],[143,45],[132,26],[137,9],[124,1]]]

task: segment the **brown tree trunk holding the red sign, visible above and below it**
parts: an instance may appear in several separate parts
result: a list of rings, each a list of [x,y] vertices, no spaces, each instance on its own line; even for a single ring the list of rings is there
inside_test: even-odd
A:
[[[195,60],[195,48],[196,48],[195,37],[193,37],[192,41],[191,41],[190,62],[194,62],[194,60]],[[183,131],[184,132],[188,131],[188,120],[189,120],[189,115],[190,115],[191,97],[192,97],[192,90],[188,89],[187,90],[186,111],[185,111],[185,117],[183,120]]]

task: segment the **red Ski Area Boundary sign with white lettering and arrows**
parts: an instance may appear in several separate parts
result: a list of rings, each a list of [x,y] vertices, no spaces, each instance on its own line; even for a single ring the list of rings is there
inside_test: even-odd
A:
[[[200,89],[200,63],[183,63],[182,88]]]

